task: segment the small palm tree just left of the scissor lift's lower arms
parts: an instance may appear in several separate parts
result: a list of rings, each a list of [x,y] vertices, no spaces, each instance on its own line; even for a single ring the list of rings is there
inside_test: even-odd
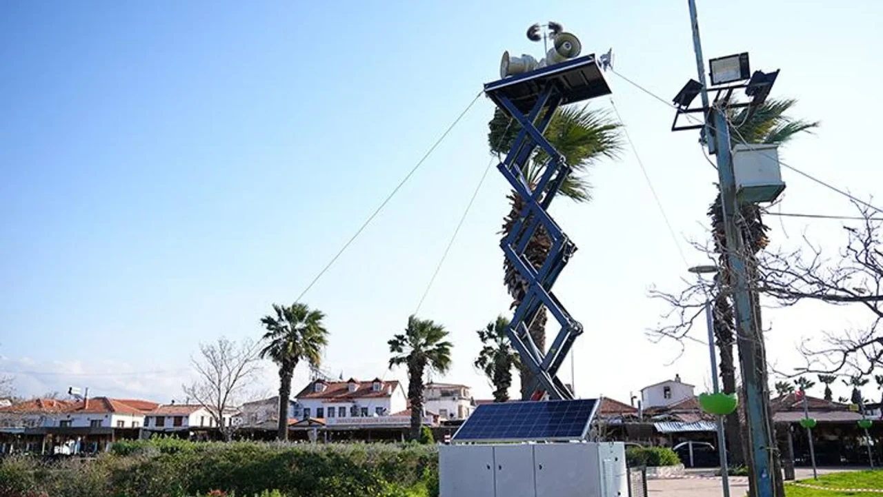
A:
[[[506,330],[509,320],[498,316],[496,321],[487,323],[487,327],[479,329],[479,340],[484,344],[479,357],[475,359],[475,367],[487,375],[494,385],[494,402],[509,400],[509,387],[512,386],[512,368],[519,364],[518,354],[509,343]]]

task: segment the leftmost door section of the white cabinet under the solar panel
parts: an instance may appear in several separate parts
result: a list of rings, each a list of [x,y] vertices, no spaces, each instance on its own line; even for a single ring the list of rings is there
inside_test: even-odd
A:
[[[494,495],[494,446],[439,447],[441,497]]]

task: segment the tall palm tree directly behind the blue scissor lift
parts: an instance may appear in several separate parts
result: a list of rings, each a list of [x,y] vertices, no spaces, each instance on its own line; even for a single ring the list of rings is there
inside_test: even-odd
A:
[[[500,109],[494,110],[494,118],[488,123],[490,132],[488,142],[491,152],[506,154],[512,147],[520,124],[507,117]],[[602,159],[614,158],[623,147],[621,124],[616,123],[608,113],[598,109],[582,109],[567,107],[556,109],[545,132],[546,139],[567,159],[570,173],[565,178],[561,190],[564,197],[577,202],[591,200],[591,185],[586,177],[587,169]],[[547,168],[548,155],[535,151],[525,161],[522,174],[531,188],[540,181]],[[509,193],[509,215],[503,219],[502,237],[508,237],[518,217],[525,207],[524,201],[515,192]],[[525,255],[534,267],[540,267],[546,260],[552,240],[546,230],[538,229],[527,244]],[[527,291],[527,282],[517,269],[503,260],[503,282],[512,297],[512,308],[521,304]],[[536,318],[529,324],[528,330],[537,348],[546,350],[546,310],[541,308]],[[525,366],[521,367],[521,395],[528,398],[532,392],[527,391],[533,380],[533,374]]]

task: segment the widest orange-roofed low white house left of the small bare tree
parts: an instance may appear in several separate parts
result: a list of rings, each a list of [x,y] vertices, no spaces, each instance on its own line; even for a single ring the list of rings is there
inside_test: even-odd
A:
[[[57,413],[52,425],[59,428],[140,428],[144,424],[144,415],[157,405],[132,399],[88,398]]]

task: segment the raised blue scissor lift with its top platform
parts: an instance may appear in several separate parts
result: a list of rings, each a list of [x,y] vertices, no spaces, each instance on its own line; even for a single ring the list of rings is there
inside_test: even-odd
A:
[[[566,158],[543,137],[543,132],[559,106],[610,93],[610,87],[593,55],[485,85],[485,94],[497,107],[521,124],[521,130],[517,133],[509,154],[497,166],[525,204],[509,236],[501,243],[506,258],[528,283],[507,333],[522,362],[536,378],[535,383],[525,390],[534,394],[545,392],[552,399],[573,398],[570,390],[558,379],[557,372],[574,340],[583,333],[583,326],[570,316],[552,293],[552,285],[567,265],[570,256],[576,252],[577,246],[547,212],[564,178],[569,174],[570,166]],[[546,152],[549,162],[537,184],[531,185],[522,171],[525,170],[526,162],[531,160],[536,147]],[[546,231],[552,245],[547,259],[540,267],[534,267],[527,259],[525,250],[540,227]],[[528,333],[531,323],[543,307],[552,313],[561,326],[548,351],[539,350]]]

